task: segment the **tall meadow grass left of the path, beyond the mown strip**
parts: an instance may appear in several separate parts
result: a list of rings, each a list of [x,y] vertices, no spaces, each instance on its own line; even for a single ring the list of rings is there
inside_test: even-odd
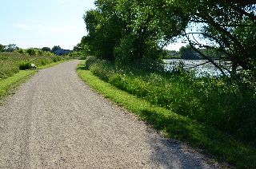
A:
[[[64,61],[70,57],[59,56],[28,56],[20,53],[0,53],[0,79],[12,77],[20,70],[30,69],[30,64],[43,66],[57,61]]]

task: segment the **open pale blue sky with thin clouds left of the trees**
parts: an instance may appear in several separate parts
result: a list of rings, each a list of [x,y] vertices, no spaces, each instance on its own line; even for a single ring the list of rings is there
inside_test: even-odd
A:
[[[0,44],[22,49],[60,45],[73,49],[86,25],[86,10],[94,0],[0,0]]]

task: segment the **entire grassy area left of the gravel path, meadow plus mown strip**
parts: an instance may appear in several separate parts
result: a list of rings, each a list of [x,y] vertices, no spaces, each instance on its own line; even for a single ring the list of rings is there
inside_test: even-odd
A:
[[[6,96],[14,92],[15,88],[37,72],[31,71],[31,63],[37,65],[38,69],[45,69],[68,59],[69,57],[42,57],[18,53],[0,53],[0,104],[2,104]]]

